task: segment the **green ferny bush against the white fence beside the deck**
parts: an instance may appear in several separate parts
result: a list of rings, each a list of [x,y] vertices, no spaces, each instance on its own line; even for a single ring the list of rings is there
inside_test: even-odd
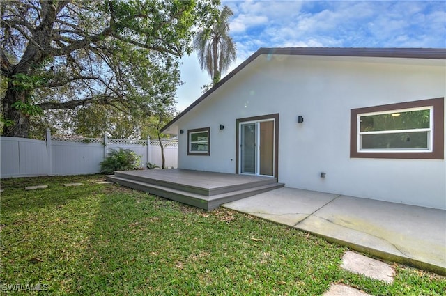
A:
[[[110,151],[103,162],[100,163],[101,173],[114,171],[130,171],[139,168],[141,157],[130,149],[119,148]]]

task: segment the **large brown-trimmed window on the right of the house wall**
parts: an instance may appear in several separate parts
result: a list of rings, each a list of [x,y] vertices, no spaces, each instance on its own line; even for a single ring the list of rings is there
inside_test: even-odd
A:
[[[443,159],[444,99],[351,110],[351,157]]]

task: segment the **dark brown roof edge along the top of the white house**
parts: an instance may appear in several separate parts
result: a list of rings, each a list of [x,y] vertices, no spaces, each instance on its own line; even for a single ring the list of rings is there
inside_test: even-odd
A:
[[[240,70],[245,68],[249,63],[254,61],[261,54],[284,54],[298,56],[360,56],[360,57],[378,57],[378,58],[406,58],[406,59],[446,59],[445,48],[359,48],[359,47],[261,47],[254,54],[249,56],[237,68],[229,72],[215,86],[203,93],[183,112],[178,114],[176,118],[171,120],[167,125],[162,127],[161,132],[167,130],[171,125],[176,123],[178,119],[183,117],[187,112],[193,109],[197,104],[206,99],[208,95],[220,88],[226,81],[231,79]]]

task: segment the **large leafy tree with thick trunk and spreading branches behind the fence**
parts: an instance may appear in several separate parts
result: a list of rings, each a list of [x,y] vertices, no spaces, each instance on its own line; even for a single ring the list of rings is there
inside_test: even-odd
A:
[[[153,73],[178,71],[196,26],[217,1],[1,1],[2,134],[28,137],[31,118],[92,104],[126,114],[164,86]],[[17,63],[8,56],[14,56]],[[144,83],[143,83],[144,81]],[[165,82],[165,81],[164,81]],[[171,86],[180,84],[172,77]]]

